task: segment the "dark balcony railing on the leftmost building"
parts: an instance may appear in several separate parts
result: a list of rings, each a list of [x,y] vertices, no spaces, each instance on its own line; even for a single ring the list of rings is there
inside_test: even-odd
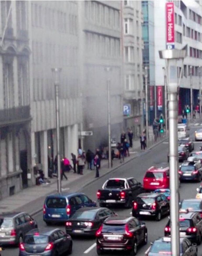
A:
[[[24,123],[31,120],[30,106],[0,110],[0,127]]]

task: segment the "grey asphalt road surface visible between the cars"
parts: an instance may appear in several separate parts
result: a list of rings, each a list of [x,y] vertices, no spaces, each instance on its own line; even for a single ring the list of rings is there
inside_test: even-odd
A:
[[[193,133],[196,128],[190,129],[190,137],[193,138]],[[199,148],[199,145],[202,145],[202,142],[195,143],[195,150]],[[98,188],[101,188],[104,181],[110,177],[135,177],[138,181],[142,182],[143,176],[145,174],[146,169],[152,166],[155,163],[167,162],[167,153],[168,153],[168,143],[163,142],[151,149],[147,152],[140,153],[140,156],[131,160],[129,163],[120,166],[119,169],[115,170],[112,173],[109,173],[103,178],[99,180],[95,180],[90,185],[81,189],[81,192],[86,193],[91,199],[96,200],[96,192]],[[184,198],[195,198],[196,188],[198,187],[198,183],[182,183],[180,187],[180,199]],[[73,191],[70,191],[73,192]],[[115,212],[118,213],[119,216],[130,216],[130,209],[120,209],[114,208]],[[34,218],[38,222],[39,227],[45,227],[46,224],[42,220],[42,212],[38,215],[34,216]],[[168,221],[167,217],[164,217],[160,222],[156,222],[154,220],[146,220],[146,226],[148,229],[148,243],[139,248],[137,255],[143,256],[145,255],[146,249],[150,246],[150,242],[155,240],[156,238],[164,235],[164,227]],[[63,230],[63,226],[54,226],[59,227]],[[52,227],[50,227],[51,229]],[[2,253],[2,256],[15,256],[18,255],[18,248],[6,248],[6,250]],[[95,247],[95,239],[85,239],[85,238],[74,238],[73,239],[73,256],[80,255],[88,255],[95,256],[96,247]],[[109,255],[109,254],[108,254]],[[110,254],[110,255],[123,255],[123,254]],[[202,255],[202,244],[198,247],[198,255]]]

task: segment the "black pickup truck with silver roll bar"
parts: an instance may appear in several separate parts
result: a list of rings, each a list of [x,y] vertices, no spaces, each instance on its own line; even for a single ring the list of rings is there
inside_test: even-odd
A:
[[[121,204],[126,208],[132,207],[132,201],[144,192],[142,184],[134,178],[112,178],[104,182],[102,189],[97,192],[100,207],[107,204]]]

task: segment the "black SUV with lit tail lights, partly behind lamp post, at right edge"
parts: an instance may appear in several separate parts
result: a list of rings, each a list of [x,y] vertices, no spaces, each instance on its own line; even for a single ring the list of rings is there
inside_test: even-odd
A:
[[[171,223],[169,220],[164,228],[165,236],[169,236],[171,234],[170,224]],[[189,212],[188,210],[186,210],[185,213],[180,213],[179,228],[180,237],[187,237],[192,242],[196,242],[197,244],[201,243],[202,221],[200,213]]]

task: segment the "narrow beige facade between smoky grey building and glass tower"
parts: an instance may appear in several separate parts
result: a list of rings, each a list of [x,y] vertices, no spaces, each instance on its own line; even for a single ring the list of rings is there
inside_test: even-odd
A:
[[[142,12],[141,1],[122,1],[123,59],[124,59],[124,112],[125,129],[139,138],[143,123],[143,66],[142,66]]]

